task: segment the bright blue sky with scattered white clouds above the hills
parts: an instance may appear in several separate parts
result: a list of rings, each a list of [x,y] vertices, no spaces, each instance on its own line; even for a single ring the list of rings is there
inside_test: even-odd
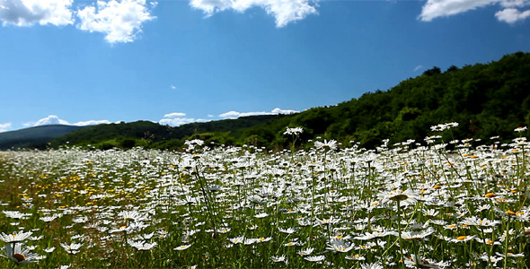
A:
[[[0,132],[335,105],[530,51],[530,0],[0,0]]]

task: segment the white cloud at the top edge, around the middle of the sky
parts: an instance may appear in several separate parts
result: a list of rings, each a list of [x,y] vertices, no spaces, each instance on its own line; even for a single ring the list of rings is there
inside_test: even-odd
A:
[[[258,6],[276,19],[277,27],[284,27],[289,22],[305,19],[307,15],[316,14],[318,0],[190,0],[193,8],[200,9],[207,16],[232,9],[244,13],[247,9]]]

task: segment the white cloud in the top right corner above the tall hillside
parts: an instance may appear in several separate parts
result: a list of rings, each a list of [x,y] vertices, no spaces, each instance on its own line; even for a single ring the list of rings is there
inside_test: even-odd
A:
[[[505,8],[495,13],[500,22],[513,23],[530,16],[530,10],[521,12],[515,8],[529,5],[530,0],[428,0],[418,18],[423,22],[430,22],[438,17],[465,13],[490,4],[500,4]]]

